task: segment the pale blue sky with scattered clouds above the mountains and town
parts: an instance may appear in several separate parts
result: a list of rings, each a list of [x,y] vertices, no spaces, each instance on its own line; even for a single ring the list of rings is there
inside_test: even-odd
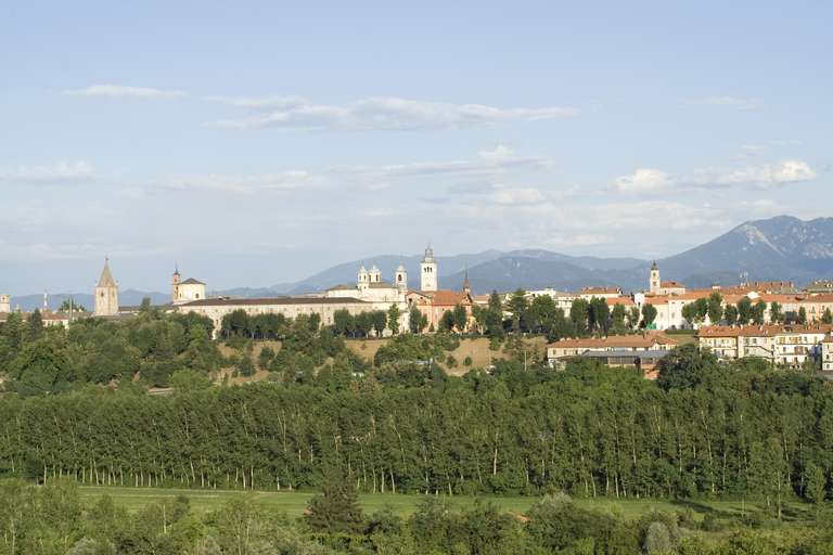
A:
[[[453,4],[453,5],[451,5]],[[829,2],[7,2],[0,292],[830,216]]]

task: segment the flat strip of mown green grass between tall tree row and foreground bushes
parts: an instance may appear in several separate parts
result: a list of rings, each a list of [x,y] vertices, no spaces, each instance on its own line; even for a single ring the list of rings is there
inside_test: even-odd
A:
[[[197,512],[213,511],[220,507],[227,501],[235,496],[251,496],[256,503],[266,508],[285,513],[291,517],[300,516],[313,492],[297,491],[202,491],[159,488],[117,488],[117,487],[81,487],[82,498],[92,502],[101,495],[107,494],[113,500],[126,506],[129,511],[138,511],[149,503],[163,500],[172,500],[183,494],[191,500],[191,506]],[[424,495],[400,494],[362,494],[359,496],[366,513],[373,513],[383,507],[388,507],[395,513],[408,516],[419,505]],[[466,507],[475,502],[476,498],[452,496],[448,501],[452,506]],[[533,496],[483,496],[483,501],[495,503],[501,511],[514,514],[524,514],[539,498]],[[694,518],[702,519],[706,513],[716,513],[720,517],[740,516],[744,511],[759,509],[753,503],[741,501],[707,501],[707,502],[669,502],[656,500],[608,500],[608,499],[576,499],[576,502],[588,508],[607,511],[627,518],[639,517],[651,511],[682,512],[691,508]],[[785,516],[791,519],[804,519],[807,516],[807,507],[803,504],[787,504]]]

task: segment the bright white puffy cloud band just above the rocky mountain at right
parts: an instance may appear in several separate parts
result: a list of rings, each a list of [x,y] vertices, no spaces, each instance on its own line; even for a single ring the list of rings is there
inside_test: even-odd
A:
[[[739,169],[705,169],[689,176],[670,176],[658,169],[639,168],[614,180],[614,189],[625,193],[651,193],[669,189],[713,189],[747,186],[767,189],[816,179],[806,162],[790,159],[777,164],[747,166]]]

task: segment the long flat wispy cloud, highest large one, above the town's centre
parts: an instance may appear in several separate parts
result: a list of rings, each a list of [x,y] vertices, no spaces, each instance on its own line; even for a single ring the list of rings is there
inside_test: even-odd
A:
[[[210,125],[227,129],[300,130],[418,130],[470,129],[503,121],[534,121],[575,116],[571,107],[498,108],[483,104],[425,102],[397,96],[368,96],[344,104],[317,104],[298,96],[228,98],[208,96],[254,111],[255,114],[222,119]]]

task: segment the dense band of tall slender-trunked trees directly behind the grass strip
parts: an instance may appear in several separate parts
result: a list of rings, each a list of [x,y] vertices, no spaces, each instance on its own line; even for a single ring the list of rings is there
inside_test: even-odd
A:
[[[576,362],[448,377],[349,360],[299,380],[81,390],[0,403],[0,474],[132,487],[825,498],[833,393],[802,373],[681,347],[657,383]],[[820,486],[819,486],[820,485]]]

